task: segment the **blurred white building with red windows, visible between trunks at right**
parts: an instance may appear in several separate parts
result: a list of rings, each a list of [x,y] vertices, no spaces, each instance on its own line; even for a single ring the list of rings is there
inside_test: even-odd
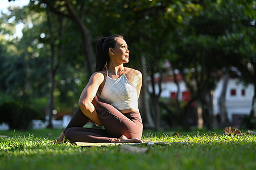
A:
[[[176,75],[177,80],[179,82],[180,94],[178,94],[178,98],[183,99],[183,95],[187,92],[187,88],[185,87],[185,83],[182,80],[179,74]],[[162,93],[161,97],[169,98],[173,97],[171,95],[176,95],[177,86],[173,80],[172,76],[165,77],[162,82]],[[158,80],[158,75],[156,74],[155,80]],[[222,91],[223,79],[217,82],[216,89],[213,92],[213,113],[215,116],[219,114],[220,109],[218,107],[218,99],[220,98]],[[148,83],[148,90],[151,92],[152,87],[151,84]],[[155,91],[158,94],[159,88],[156,83]],[[254,96],[254,87],[253,84],[249,84],[248,86],[244,86],[239,79],[229,78],[228,84],[226,87],[226,111],[229,122],[231,125],[239,126],[241,121],[245,115],[249,115],[251,111],[251,104]]]

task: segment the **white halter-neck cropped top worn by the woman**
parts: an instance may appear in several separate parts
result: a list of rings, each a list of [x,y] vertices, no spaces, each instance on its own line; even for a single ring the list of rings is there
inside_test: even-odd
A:
[[[125,109],[138,109],[137,89],[127,80],[125,71],[117,79],[112,79],[106,70],[106,82],[101,92],[101,98],[113,105],[118,111]],[[138,80],[137,80],[138,81]]]

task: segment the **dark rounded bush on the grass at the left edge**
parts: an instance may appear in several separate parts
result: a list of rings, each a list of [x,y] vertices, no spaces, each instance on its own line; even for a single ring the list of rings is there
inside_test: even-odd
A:
[[[10,129],[26,130],[30,128],[31,121],[42,119],[34,109],[15,102],[3,103],[0,106],[0,123],[5,122]]]

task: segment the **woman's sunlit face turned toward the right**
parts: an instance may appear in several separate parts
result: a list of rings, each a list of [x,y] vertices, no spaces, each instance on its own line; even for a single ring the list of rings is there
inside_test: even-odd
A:
[[[113,54],[113,59],[116,62],[127,63],[129,62],[129,50],[128,46],[122,38],[117,38],[117,45],[115,48],[110,49],[110,53]]]

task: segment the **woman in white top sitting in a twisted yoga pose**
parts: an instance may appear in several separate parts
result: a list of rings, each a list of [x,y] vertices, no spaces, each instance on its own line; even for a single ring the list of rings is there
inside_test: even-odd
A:
[[[121,35],[97,42],[97,68],[79,99],[67,128],[53,141],[142,142],[142,120],[138,97],[142,74],[124,67],[129,62],[128,46]],[[109,65],[107,65],[109,62]],[[82,128],[88,121],[105,129]]]

